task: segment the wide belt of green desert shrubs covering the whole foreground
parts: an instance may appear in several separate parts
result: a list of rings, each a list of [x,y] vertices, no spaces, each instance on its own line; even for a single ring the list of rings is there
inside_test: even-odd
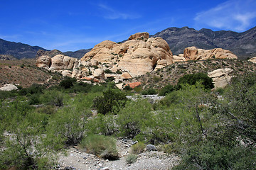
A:
[[[208,90],[211,81],[205,75],[189,74],[179,88],[160,89],[165,97],[154,104],[128,100],[127,92],[111,83],[62,82],[49,89],[33,84],[1,91],[0,169],[52,169],[58,153],[74,145],[118,159],[116,137],[139,141],[127,164],[153,144],[181,157],[174,169],[255,167],[256,73],[233,77],[215,91]],[[149,89],[146,94],[157,93]]]

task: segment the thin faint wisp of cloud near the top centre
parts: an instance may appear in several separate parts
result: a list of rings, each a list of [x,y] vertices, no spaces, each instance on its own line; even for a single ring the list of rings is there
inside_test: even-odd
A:
[[[136,18],[141,17],[136,14],[119,12],[119,11],[115,10],[114,8],[111,8],[110,6],[107,6],[105,4],[98,4],[97,6],[99,6],[104,11],[104,18],[106,18],[106,19],[111,19],[111,20],[114,20],[114,19],[136,19]]]

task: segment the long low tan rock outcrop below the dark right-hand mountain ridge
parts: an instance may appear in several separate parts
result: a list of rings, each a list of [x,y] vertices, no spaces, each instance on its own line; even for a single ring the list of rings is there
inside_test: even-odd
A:
[[[238,59],[238,57],[229,50],[223,50],[222,48],[203,50],[196,47],[185,48],[183,57],[186,60]]]

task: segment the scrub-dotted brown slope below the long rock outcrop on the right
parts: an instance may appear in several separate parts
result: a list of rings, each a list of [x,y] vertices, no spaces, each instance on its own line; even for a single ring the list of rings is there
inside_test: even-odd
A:
[[[194,74],[198,72],[208,73],[215,69],[231,68],[234,74],[243,74],[245,71],[255,71],[256,64],[245,60],[206,60],[206,61],[188,61],[176,62],[156,72],[144,74],[135,77],[128,82],[142,82],[142,87],[160,89],[167,84],[176,85],[178,79],[185,74]]]

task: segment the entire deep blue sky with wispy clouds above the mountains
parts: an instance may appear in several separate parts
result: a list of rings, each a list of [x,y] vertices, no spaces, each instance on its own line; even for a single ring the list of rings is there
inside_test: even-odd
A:
[[[0,38],[63,52],[169,27],[243,32],[256,26],[255,0],[0,0]]]

